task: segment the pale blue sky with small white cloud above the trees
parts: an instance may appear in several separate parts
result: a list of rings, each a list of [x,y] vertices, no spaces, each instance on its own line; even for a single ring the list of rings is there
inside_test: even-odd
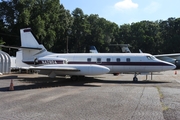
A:
[[[60,4],[71,13],[81,8],[84,14],[98,14],[118,25],[180,18],[180,0],[60,0]]]

